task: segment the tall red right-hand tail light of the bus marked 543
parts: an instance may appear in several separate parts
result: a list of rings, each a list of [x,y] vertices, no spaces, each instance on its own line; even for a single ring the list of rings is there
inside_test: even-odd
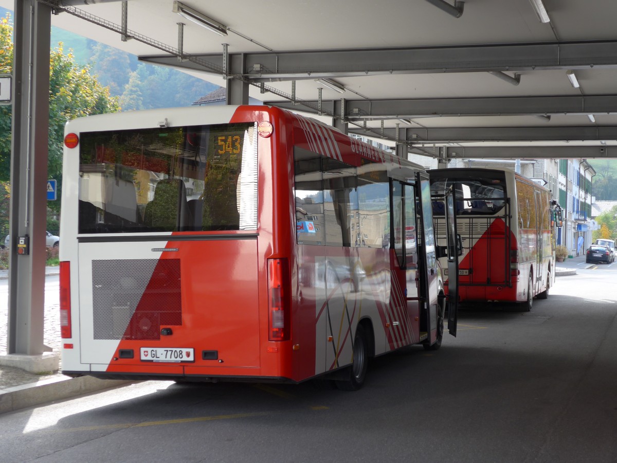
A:
[[[287,259],[268,259],[268,340],[287,341],[291,331]]]

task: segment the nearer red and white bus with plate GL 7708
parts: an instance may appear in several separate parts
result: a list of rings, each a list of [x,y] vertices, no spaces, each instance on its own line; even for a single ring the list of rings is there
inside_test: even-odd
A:
[[[441,345],[419,165],[273,107],[192,107],[69,122],[63,181],[67,375],[353,390],[370,357]]]

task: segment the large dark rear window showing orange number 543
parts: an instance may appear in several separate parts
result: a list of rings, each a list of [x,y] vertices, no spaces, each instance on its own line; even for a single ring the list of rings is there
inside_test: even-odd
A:
[[[80,135],[79,233],[254,230],[254,123]]]

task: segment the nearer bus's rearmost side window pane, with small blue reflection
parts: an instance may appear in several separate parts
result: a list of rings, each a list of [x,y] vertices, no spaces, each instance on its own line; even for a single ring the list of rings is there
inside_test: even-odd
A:
[[[294,148],[298,244],[325,244],[321,156]]]

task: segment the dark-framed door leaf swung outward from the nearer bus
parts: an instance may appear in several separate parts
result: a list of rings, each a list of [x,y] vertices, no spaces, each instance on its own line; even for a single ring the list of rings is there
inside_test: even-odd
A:
[[[454,205],[455,190],[450,187],[450,191],[445,194],[445,227],[447,235],[448,250],[448,332],[450,335],[457,335],[457,315],[458,315],[458,256],[463,251],[460,236],[457,233],[457,217]]]

